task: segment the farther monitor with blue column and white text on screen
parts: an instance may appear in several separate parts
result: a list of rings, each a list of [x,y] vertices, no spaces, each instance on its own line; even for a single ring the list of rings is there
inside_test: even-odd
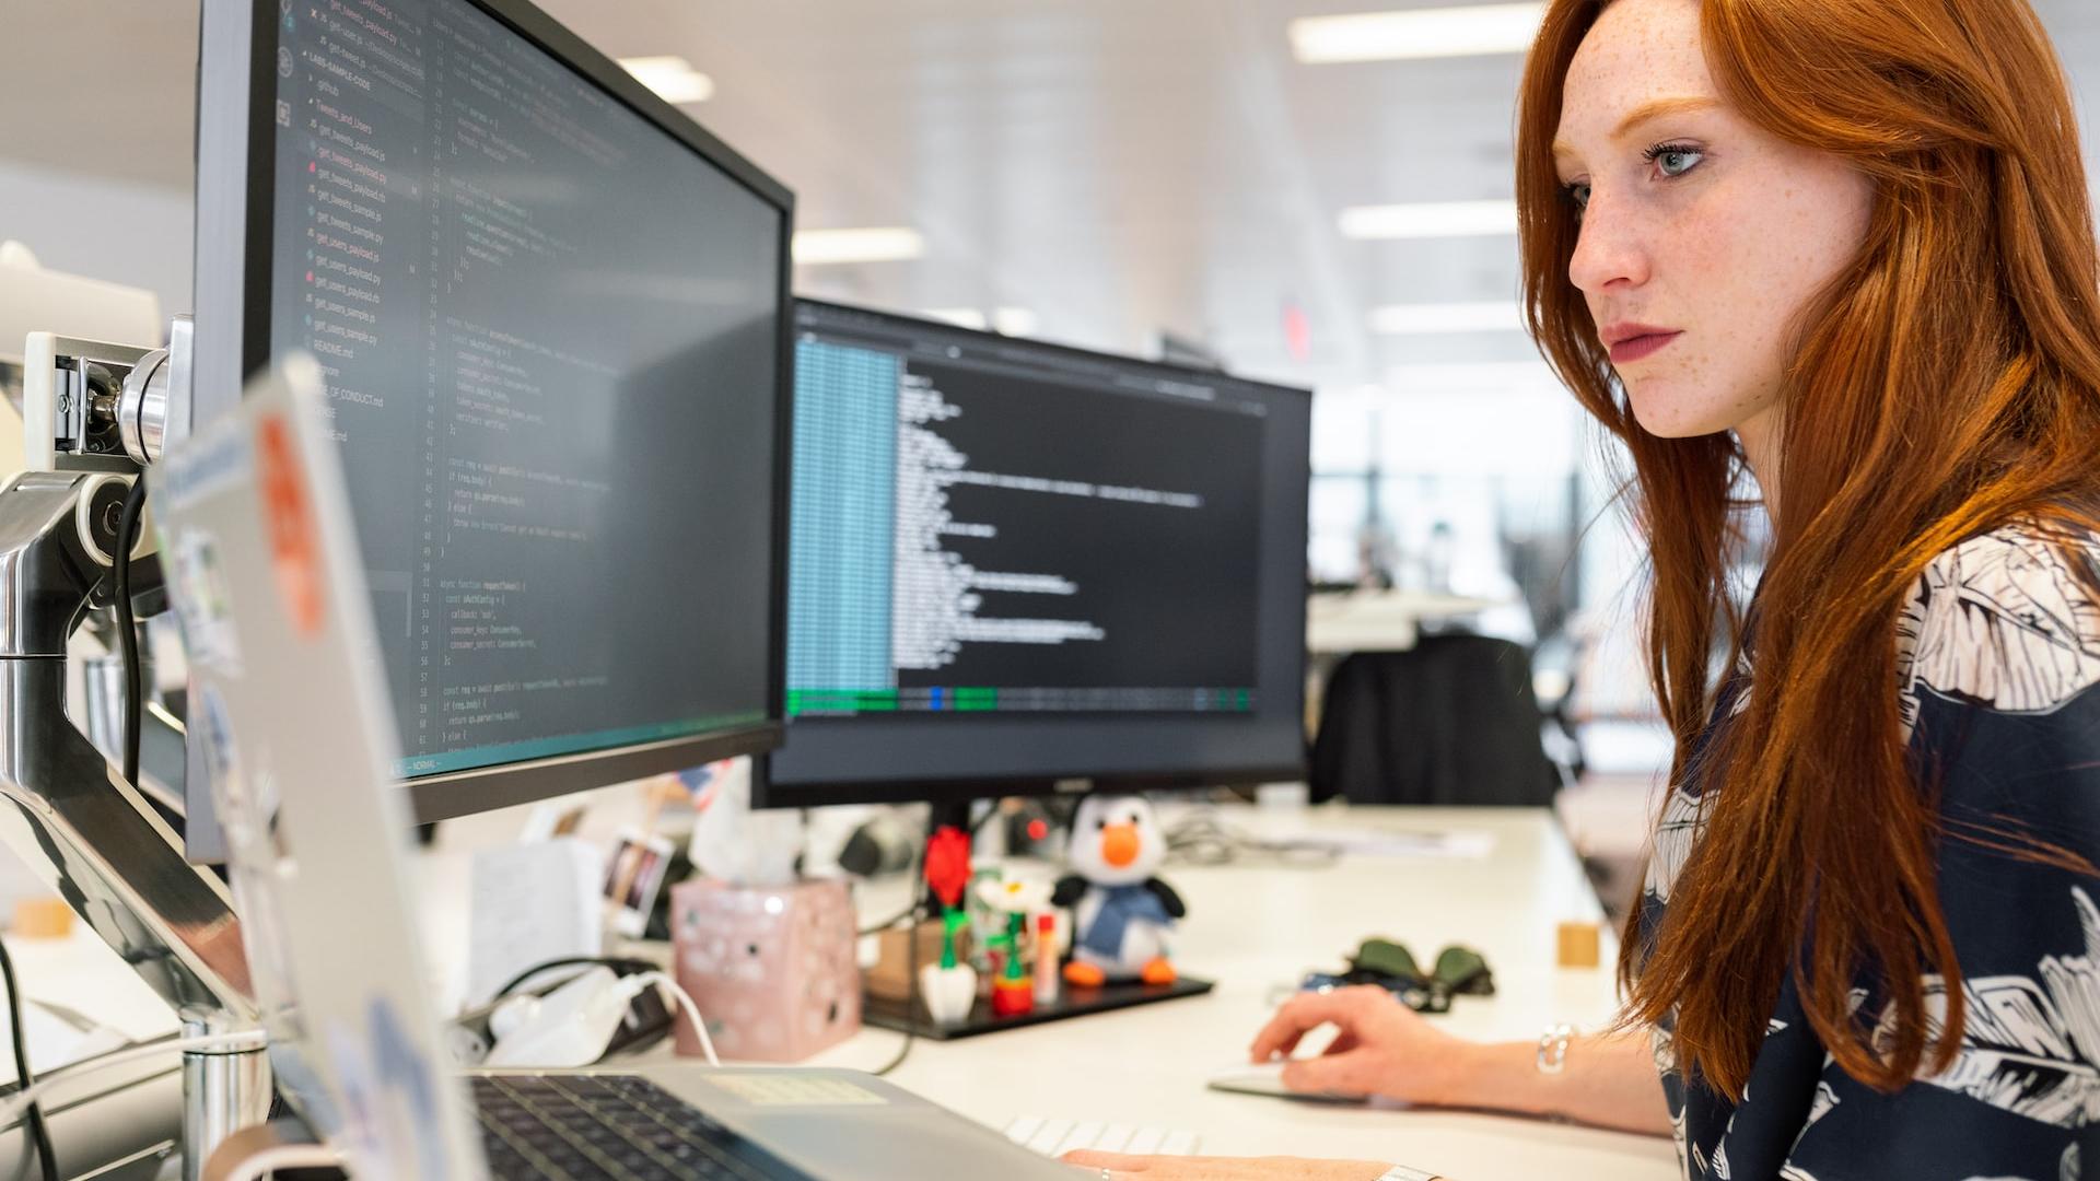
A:
[[[773,807],[1300,778],[1310,395],[796,303]]]

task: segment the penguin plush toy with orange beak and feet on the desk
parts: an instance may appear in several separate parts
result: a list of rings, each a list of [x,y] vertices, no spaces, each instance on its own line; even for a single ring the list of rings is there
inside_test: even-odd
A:
[[[1168,883],[1153,876],[1166,859],[1168,838],[1151,801],[1130,794],[1079,801],[1067,849],[1073,872],[1050,895],[1054,906],[1073,910],[1067,983],[1174,983],[1168,931],[1189,908]]]

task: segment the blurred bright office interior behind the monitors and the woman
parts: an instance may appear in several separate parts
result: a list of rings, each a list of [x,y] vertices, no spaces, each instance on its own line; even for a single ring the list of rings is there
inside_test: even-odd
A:
[[[1638,548],[1516,317],[1527,6],[540,2],[798,191],[802,294],[1317,389],[1308,576],[1497,601],[1438,626],[1653,782]],[[2035,6],[2100,118],[2100,6]],[[187,311],[197,4],[0,13],[0,237]]]

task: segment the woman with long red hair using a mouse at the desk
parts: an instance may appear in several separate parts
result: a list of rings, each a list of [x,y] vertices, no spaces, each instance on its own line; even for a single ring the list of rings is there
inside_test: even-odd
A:
[[[1334,1023],[1289,1086],[1672,1133],[1693,1181],[2100,1170],[2100,263],[2026,0],[1554,0],[1516,198],[1676,733],[1625,1028],[1472,1044],[1348,990],[1254,1055]]]

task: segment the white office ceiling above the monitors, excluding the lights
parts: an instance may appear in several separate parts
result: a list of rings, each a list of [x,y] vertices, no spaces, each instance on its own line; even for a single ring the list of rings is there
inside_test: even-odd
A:
[[[1289,59],[1292,17],[1422,0],[544,4],[613,57],[680,55],[710,74],[714,99],[687,109],[794,187],[804,227],[926,235],[922,261],[806,267],[808,294],[1025,307],[1044,336],[1132,351],[1170,328],[1235,368],[1325,387],[1533,355],[1516,332],[1365,330],[1378,305],[1516,286],[1514,237],[1336,231],[1352,204],[1510,193],[1516,57]],[[2092,124],[2100,4],[2037,8]],[[195,25],[193,0],[0,0],[0,162],[187,189]],[[1312,328],[1308,364],[1283,343],[1292,303]]]

